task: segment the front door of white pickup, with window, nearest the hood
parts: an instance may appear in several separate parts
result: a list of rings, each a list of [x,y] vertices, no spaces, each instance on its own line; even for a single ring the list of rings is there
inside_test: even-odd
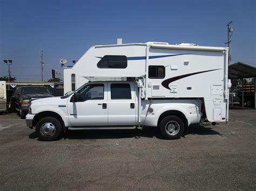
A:
[[[106,82],[91,82],[77,91],[78,102],[73,96],[68,101],[68,118],[72,126],[107,125]]]

